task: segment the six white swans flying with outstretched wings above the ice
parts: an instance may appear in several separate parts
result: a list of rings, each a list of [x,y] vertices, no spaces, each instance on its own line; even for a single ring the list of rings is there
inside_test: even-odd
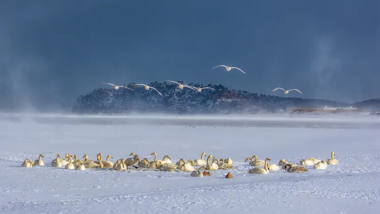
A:
[[[237,68],[237,67],[229,67],[229,66],[225,66],[225,65],[218,65],[218,66],[216,66],[216,67],[213,67],[212,69],[214,69],[214,68],[218,68],[218,67],[225,67],[227,71],[230,71],[231,69],[237,69],[237,70],[241,71],[242,73],[246,74],[246,73],[245,73],[244,71],[242,71],[240,68]],[[198,87],[198,88],[197,88],[197,87],[194,87],[194,86],[188,86],[188,85],[184,85],[184,84],[181,84],[181,83],[177,83],[177,82],[175,82],[175,81],[167,81],[167,82],[171,82],[171,83],[177,84],[177,85],[178,85],[178,88],[181,89],[181,90],[182,90],[183,88],[188,88],[188,89],[192,89],[192,90],[197,91],[197,92],[202,92],[202,89],[210,89],[210,90],[215,91],[215,89],[210,88],[210,87],[203,87],[203,88]],[[128,88],[128,87],[125,87],[125,86],[117,86],[117,85],[114,85],[114,84],[112,84],[112,83],[101,83],[101,84],[111,85],[111,86],[113,86],[113,87],[115,88],[115,90],[119,90],[120,88],[126,88],[126,89],[129,89],[129,90],[132,90],[132,91],[133,91],[133,89],[130,89],[130,88]],[[145,88],[145,90],[153,89],[153,90],[155,90],[159,95],[162,96],[161,92],[159,92],[157,89],[155,89],[155,88],[153,88],[153,87],[151,87],[151,86],[148,86],[148,85],[146,85],[146,84],[132,84],[131,86],[143,86],[143,87]],[[301,92],[300,90],[298,90],[298,89],[285,90],[285,89],[282,89],[282,88],[276,88],[276,89],[274,89],[273,91],[276,91],[276,90],[278,90],[278,89],[283,90],[285,94],[288,94],[289,91],[297,91],[297,92],[300,92],[300,94],[302,94],[302,92]]]

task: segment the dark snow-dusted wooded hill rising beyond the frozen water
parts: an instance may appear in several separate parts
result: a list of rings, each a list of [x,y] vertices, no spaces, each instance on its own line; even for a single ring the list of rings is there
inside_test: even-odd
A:
[[[133,84],[133,83],[131,83]],[[150,83],[162,93],[144,87],[133,87],[134,91],[120,88],[99,88],[79,96],[72,108],[78,114],[125,114],[125,113],[175,113],[175,114],[229,114],[274,112],[287,106],[320,107],[324,105],[346,105],[346,103],[301,98],[267,96],[247,91],[229,90],[223,85],[208,85],[215,91],[204,89],[201,93],[178,85]],[[189,84],[195,87],[205,87]]]

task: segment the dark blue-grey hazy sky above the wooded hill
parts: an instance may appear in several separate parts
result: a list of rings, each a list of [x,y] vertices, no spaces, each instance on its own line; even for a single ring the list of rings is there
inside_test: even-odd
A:
[[[100,82],[165,79],[380,96],[380,1],[311,2],[1,1],[0,108],[71,108]]]

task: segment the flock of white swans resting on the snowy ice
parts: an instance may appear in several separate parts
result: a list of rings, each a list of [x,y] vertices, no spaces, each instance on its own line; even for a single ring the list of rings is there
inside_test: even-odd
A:
[[[157,169],[160,171],[183,171],[183,172],[191,172],[190,175],[192,177],[203,177],[209,176],[212,170],[229,170],[233,169],[234,165],[230,157],[226,159],[218,159],[214,158],[213,155],[208,155],[207,160],[205,161],[204,156],[206,156],[205,152],[202,152],[200,159],[189,159],[187,162],[183,158],[179,159],[176,164],[173,164],[171,161],[170,155],[165,155],[162,159],[157,159],[157,153],[151,153],[154,155],[154,160],[149,162],[148,158],[144,158],[142,161],[138,154],[134,154],[131,152],[129,155],[132,157],[126,159],[118,159],[116,163],[113,163],[110,159],[113,158],[111,155],[106,157],[106,160],[103,161],[102,153],[98,153],[97,161],[90,160],[88,155],[85,154],[83,158],[84,161],[78,159],[77,155],[74,155],[74,159],[72,159],[72,155],[70,153],[66,154],[65,158],[60,158],[61,155],[57,154],[57,158],[51,161],[52,167],[64,167],[68,170],[86,170],[86,168],[109,168],[113,170],[128,170],[128,166],[132,166],[134,168],[148,168],[148,169]],[[277,171],[279,169],[284,169],[286,172],[293,173],[302,173],[307,172],[303,166],[314,165],[314,169],[326,169],[327,165],[336,165],[338,164],[338,160],[334,158],[335,153],[331,153],[331,158],[327,160],[327,162],[323,160],[316,159],[314,157],[310,157],[309,159],[301,159],[300,165],[296,165],[293,163],[288,163],[285,159],[281,159],[276,164],[269,164],[269,158],[266,158],[265,161],[257,158],[257,155],[253,155],[252,157],[247,157],[246,161],[251,160],[249,165],[255,166],[248,171],[251,174],[268,174],[269,171]],[[45,166],[43,160],[43,155],[40,154],[38,159],[35,162],[32,159],[25,159],[25,161],[21,164],[21,167],[34,167],[34,166]],[[212,161],[211,161],[211,158]],[[211,162],[210,162],[211,161]],[[215,163],[214,163],[215,162]],[[194,167],[199,167],[195,169]],[[261,168],[262,167],[262,168]],[[202,172],[201,170],[208,170]],[[226,178],[232,178],[231,173],[229,172]]]

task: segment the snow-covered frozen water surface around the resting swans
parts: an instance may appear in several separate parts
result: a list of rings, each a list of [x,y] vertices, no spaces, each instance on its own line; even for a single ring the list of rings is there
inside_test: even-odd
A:
[[[0,213],[377,213],[380,209],[380,120],[239,117],[0,116]],[[233,170],[194,178],[148,169],[52,168],[57,153],[116,161],[130,152],[153,159],[231,157]],[[307,173],[247,173],[256,154],[330,158],[339,165]],[[44,155],[44,167],[23,168]],[[83,158],[82,158],[83,159]],[[233,179],[225,179],[231,172]]]

